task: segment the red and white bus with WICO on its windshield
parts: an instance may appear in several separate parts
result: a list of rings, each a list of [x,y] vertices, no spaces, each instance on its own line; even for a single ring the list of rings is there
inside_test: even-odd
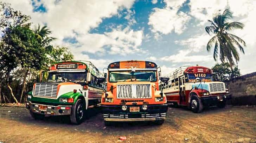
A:
[[[189,107],[200,113],[205,106],[224,108],[229,98],[225,83],[217,80],[217,74],[203,66],[183,66],[169,73],[168,83],[160,87],[167,102]]]

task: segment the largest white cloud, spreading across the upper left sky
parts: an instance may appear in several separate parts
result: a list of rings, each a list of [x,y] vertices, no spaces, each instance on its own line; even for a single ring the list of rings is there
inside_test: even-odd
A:
[[[134,24],[133,15],[135,11],[129,10],[134,0],[108,0],[108,1],[36,1],[36,6],[46,8],[45,13],[33,12],[31,0],[4,0],[11,3],[14,9],[21,10],[23,14],[31,15],[34,24],[47,24],[52,30],[52,36],[56,37],[56,45],[64,45],[70,48],[75,55],[75,59],[86,57],[82,52],[101,54],[110,49],[110,54],[121,54],[140,51],[138,48],[143,39],[143,31],[134,31],[130,27],[118,27],[104,34],[91,34],[92,28],[98,27],[103,19],[118,15],[123,9],[127,9],[125,19],[129,24]],[[65,43],[65,37],[75,37],[78,43]],[[93,61],[94,59],[90,59]],[[99,59],[100,60],[100,59]],[[98,63],[98,62],[97,62]]]

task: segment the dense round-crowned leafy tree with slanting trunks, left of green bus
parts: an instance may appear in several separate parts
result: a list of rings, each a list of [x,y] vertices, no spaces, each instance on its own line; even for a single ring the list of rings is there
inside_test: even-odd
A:
[[[10,27],[6,30],[6,34],[2,38],[2,41],[3,44],[1,47],[4,49],[3,66],[7,68],[7,86],[12,91],[8,82],[9,75],[14,68],[21,67],[24,71],[24,92],[26,84],[25,81],[29,69],[35,68],[39,70],[45,59],[44,48],[41,47],[36,34],[29,26]],[[21,93],[21,99],[23,92]]]

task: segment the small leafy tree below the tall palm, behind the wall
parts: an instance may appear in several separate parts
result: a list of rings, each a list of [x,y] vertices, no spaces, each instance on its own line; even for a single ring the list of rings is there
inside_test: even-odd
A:
[[[240,69],[238,66],[231,68],[229,63],[216,64],[212,67],[213,72],[218,74],[220,81],[229,81],[232,78],[240,76]]]

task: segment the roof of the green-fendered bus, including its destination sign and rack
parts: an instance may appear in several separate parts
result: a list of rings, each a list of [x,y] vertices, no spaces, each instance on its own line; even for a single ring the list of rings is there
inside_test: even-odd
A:
[[[94,64],[85,60],[70,60],[53,63],[49,70],[88,70],[94,76],[102,77],[102,73],[97,69]]]

